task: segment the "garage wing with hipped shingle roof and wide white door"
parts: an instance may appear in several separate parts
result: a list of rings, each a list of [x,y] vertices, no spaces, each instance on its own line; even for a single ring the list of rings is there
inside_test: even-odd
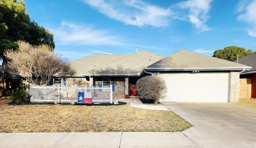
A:
[[[145,70],[166,81],[167,97],[160,102],[237,102],[239,74],[250,68],[182,49]]]

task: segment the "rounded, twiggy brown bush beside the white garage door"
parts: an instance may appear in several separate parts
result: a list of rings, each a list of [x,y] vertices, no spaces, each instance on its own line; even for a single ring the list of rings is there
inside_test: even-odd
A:
[[[154,103],[166,96],[167,86],[164,79],[160,77],[142,77],[137,81],[136,85],[140,96],[144,99],[153,100]]]

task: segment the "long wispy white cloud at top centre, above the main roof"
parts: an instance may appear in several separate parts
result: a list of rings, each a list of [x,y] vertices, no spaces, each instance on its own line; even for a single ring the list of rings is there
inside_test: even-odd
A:
[[[82,0],[109,18],[134,26],[168,26],[170,9],[147,4],[140,0],[104,1]]]

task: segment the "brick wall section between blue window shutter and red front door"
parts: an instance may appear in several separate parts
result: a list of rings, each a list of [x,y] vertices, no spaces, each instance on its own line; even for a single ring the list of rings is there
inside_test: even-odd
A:
[[[115,91],[113,91],[113,98],[124,98],[125,96],[125,79],[124,77],[115,78]]]

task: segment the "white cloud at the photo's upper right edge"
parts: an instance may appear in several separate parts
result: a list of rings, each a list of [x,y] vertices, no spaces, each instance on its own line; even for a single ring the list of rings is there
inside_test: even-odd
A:
[[[239,8],[239,11],[242,11],[240,9],[242,8]],[[246,12],[243,14],[240,14],[238,16],[238,20],[244,20],[245,22],[250,24],[252,28],[248,30],[248,35],[252,37],[256,37],[256,0],[248,4],[248,6],[244,8],[244,10]]]

